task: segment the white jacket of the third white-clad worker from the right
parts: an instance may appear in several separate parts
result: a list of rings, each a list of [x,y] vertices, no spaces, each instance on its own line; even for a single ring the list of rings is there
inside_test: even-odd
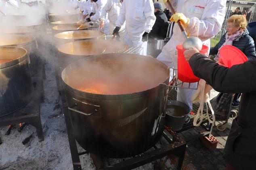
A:
[[[120,14],[120,9],[122,7],[122,3],[120,0],[107,0],[107,4],[102,9],[101,20],[106,20],[106,16],[108,13],[109,21],[115,25],[116,20]]]

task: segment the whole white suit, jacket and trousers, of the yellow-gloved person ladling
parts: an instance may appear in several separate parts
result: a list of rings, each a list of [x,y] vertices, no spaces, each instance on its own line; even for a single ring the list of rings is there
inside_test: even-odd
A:
[[[199,37],[204,45],[209,47],[210,38],[216,35],[222,26],[225,18],[227,0],[176,0],[177,13],[183,13],[190,19],[187,26],[187,33],[190,36]],[[170,41],[163,47],[162,52],[157,56],[159,61],[168,65],[169,68],[177,68],[176,45],[184,42],[184,37],[177,24],[174,25],[173,35]],[[208,51],[208,53],[209,53]],[[177,73],[175,73],[177,75]],[[171,75],[172,76],[172,75]],[[188,83],[183,86],[188,87]],[[192,83],[191,88],[196,88],[197,83]],[[178,88],[177,100],[189,106],[192,110],[191,98],[196,90]]]

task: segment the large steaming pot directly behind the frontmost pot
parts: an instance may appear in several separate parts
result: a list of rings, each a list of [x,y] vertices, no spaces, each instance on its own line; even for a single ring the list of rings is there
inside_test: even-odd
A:
[[[124,50],[126,50],[126,45],[115,40],[90,39],[74,41],[58,47],[59,64],[62,70],[70,63],[91,55],[118,53]]]

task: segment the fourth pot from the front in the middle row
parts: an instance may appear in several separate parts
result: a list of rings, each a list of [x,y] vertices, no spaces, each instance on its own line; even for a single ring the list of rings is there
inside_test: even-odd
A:
[[[63,24],[63,25],[56,25],[52,27],[52,34],[55,35],[57,33],[65,32],[65,31],[76,31],[81,24]],[[78,30],[86,30],[90,28],[91,26],[89,24],[84,24],[82,27],[80,27]]]

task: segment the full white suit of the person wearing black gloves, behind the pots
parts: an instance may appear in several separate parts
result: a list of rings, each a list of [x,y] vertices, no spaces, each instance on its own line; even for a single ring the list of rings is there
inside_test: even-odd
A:
[[[141,39],[144,32],[150,33],[155,19],[152,0],[124,0],[115,25],[121,28],[126,21],[124,42],[129,47],[143,48],[139,54],[147,55],[147,41]]]

